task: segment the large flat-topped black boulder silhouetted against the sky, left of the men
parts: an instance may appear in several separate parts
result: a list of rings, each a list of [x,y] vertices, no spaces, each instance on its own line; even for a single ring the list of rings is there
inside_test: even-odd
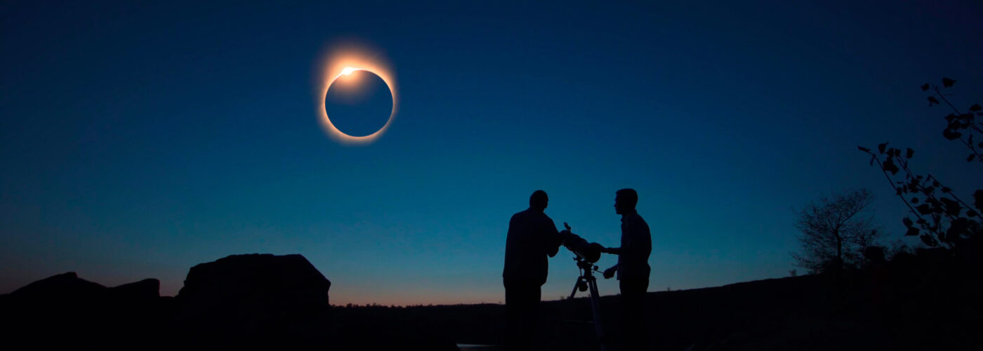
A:
[[[279,332],[322,316],[330,286],[300,255],[233,255],[191,268],[175,321],[198,337]]]

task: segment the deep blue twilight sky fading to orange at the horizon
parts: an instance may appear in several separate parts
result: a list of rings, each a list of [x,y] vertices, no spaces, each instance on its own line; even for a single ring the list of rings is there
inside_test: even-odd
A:
[[[625,187],[650,291],[715,286],[788,275],[792,209],[831,192],[870,188],[900,238],[857,145],[911,146],[964,193],[983,179],[917,88],[983,100],[979,2],[728,3],[4,2],[0,293],[75,270],[173,295],[196,263],[299,253],[333,304],[499,302],[534,190],[614,246]],[[318,124],[339,40],[394,69],[369,146]],[[569,257],[545,299],[569,293]]]

